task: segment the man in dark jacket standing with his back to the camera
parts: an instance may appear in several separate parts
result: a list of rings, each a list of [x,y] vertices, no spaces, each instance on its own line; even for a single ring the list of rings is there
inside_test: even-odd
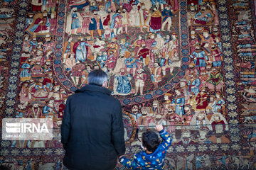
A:
[[[125,152],[121,104],[106,86],[107,74],[96,69],[88,84],[68,97],[61,142],[70,170],[112,170]]]

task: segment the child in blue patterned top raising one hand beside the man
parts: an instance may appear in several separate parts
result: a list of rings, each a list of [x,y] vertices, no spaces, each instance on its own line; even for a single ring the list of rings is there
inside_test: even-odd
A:
[[[171,146],[171,136],[163,128],[163,125],[156,125],[155,129],[158,135],[153,131],[147,131],[142,134],[142,147],[144,151],[134,154],[132,160],[126,157],[119,157],[119,162],[129,169],[164,169],[164,157],[167,149]]]

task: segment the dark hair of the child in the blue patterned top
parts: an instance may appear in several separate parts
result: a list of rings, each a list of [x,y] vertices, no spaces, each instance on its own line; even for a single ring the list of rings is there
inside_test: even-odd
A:
[[[154,152],[159,144],[159,137],[155,132],[149,130],[142,134],[142,145],[146,147],[149,152]]]

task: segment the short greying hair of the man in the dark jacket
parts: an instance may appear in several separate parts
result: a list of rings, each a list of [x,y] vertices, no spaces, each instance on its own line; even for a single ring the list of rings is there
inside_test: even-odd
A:
[[[88,84],[102,86],[107,78],[107,73],[102,69],[95,69],[88,74]]]

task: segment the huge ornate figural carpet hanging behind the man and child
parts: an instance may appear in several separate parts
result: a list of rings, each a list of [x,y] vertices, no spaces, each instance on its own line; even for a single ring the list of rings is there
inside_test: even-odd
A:
[[[1,140],[0,164],[66,169],[65,101],[101,68],[122,103],[127,157],[162,124],[173,139],[165,169],[256,169],[255,1],[0,3],[0,120],[55,128],[51,141]]]

